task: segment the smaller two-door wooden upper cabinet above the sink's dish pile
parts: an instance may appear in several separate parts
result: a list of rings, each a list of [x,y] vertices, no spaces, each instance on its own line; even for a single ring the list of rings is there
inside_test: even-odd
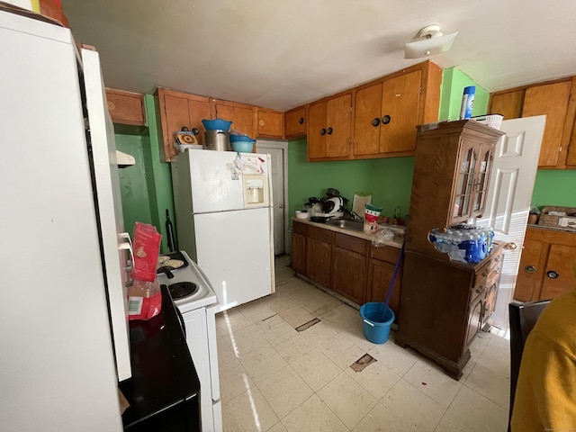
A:
[[[352,94],[313,103],[309,109],[308,159],[346,159],[350,154]]]

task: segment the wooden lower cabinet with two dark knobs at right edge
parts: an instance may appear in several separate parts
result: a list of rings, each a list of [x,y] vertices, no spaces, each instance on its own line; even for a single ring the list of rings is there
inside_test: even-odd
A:
[[[514,300],[552,300],[576,287],[576,231],[526,230]]]

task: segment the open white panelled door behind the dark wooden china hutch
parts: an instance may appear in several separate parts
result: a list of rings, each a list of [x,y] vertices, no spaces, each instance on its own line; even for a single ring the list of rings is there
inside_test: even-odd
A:
[[[499,329],[509,327],[508,304],[516,285],[545,121],[545,115],[502,121],[500,130],[506,135],[496,145],[486,211],[476,222],[492,227],[494,238],[507,243],[491,318]]]

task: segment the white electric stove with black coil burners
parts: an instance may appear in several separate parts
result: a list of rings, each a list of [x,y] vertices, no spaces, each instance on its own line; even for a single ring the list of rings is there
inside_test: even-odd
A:
[[[179,255],[177,253],[169,255],[173,257],[175,254]],[[203,275],[202,270],[184,250],[180,251],[180,254],[187,266],[171,270],[170,273],[174,275],[172,278],[168,278],[164,273],[157,275],[157,278],[158,282],[167,285],[168,289],[170,285],[187,283],[197,287],[193,293],[184,297],[175,299],[173,295],[173,300],[182,313],[186,343],[200,379],[202,432],[221,432],[222,410],[215,318],[220,305],[210,281]]]

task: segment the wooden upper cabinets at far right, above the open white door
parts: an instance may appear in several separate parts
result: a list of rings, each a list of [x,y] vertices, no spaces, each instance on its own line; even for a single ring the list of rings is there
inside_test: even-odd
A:
[[[502,114],[504,120],[545,115],[538,167],[576,166],[576,77],[491,94],[489,111]]]

